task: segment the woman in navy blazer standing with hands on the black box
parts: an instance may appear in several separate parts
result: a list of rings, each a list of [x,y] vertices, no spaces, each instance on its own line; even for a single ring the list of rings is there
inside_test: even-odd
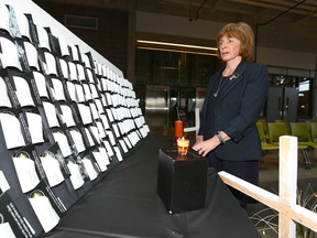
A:
[[[218,36],[225,66],[208,84],[201,123],[193,149],[208,156],[210,166],[259,184],[261,142],[256,129],[269,87],[267,69],[252,63],[254,34],[244,22],[225,25]],[[231,190],[242,207],[247,195]]]

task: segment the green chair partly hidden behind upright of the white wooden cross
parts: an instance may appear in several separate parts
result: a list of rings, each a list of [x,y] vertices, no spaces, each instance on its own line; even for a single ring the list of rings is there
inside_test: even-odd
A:
[[[292,133],[289,133],[287,131],[286,125],[283,122],[267,122],[267,128],[269,128],[270,143],[273,143],[273,144],[278,144],[280,143],[280,137],[282,137],[282,136],[292,136]],[[306,169],[307,170],[310,169],[311,162],[310,162],[308,151],[307,151],[308,145],[299,143],[299,140],[298,140],[297,149],[303,154]]]

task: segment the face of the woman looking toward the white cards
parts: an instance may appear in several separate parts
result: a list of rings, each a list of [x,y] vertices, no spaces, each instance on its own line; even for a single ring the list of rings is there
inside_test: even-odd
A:
[[[240,56],[241,42],[237,37],[223,35],[218,44],[222,61],[229,62]]]

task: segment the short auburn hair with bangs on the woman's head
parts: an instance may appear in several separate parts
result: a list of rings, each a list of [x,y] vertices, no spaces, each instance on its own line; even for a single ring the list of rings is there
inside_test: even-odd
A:
[[[220,57],[219,41],[223,35],[237,37],[241,42],[240,55],[242,58],[250,61],[253,58],[254,33],[249,24],[245,22],[228,23],[220,30],[217,35],[218,57]]]

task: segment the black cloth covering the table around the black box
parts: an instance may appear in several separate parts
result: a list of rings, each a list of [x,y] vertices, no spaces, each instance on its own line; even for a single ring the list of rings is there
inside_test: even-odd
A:
[[[206,208],[171,215],[157,195],[158,149],[168,138],[149,137],[44,235],[52,238],[260,237],[227,185],[209,169]]]

